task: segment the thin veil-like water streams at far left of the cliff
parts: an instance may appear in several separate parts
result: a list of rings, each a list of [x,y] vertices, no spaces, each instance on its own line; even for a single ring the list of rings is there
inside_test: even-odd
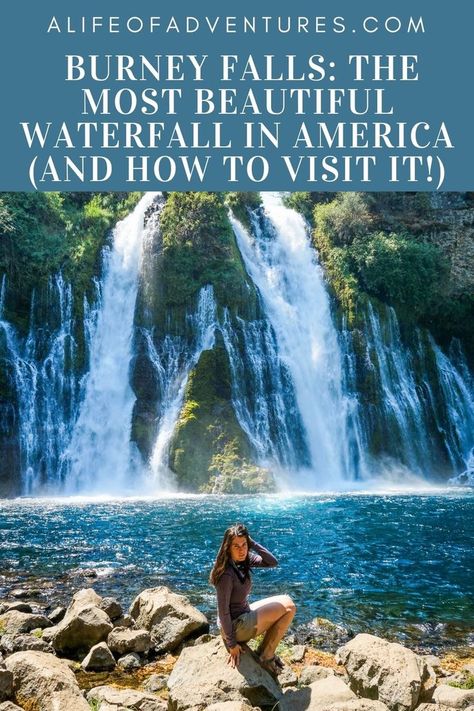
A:
[[[61,274],[49,279],[46,322],[38,325],[33,294],[29,331],[22,339],[3,320],[5,288],[4,278],[0,328],[16,391],[21,489],[24,494],[54,491],[61,483],[61,455],[71,436],[78,403],[72,368],[77,350],[72,290]]]

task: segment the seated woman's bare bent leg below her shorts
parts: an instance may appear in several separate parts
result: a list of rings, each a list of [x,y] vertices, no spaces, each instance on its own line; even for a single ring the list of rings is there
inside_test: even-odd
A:
[[[289,595],[275,595],[253,602],[250,608],[257,612],[257,635],[265,633],[260,658],[271,659],[295,616],[295,603]]]

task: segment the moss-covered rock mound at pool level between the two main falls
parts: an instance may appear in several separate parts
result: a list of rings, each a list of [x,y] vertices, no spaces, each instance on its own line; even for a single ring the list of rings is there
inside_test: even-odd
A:
[[[227,353],[218,342],[203,351],[189,376],[170,466],[185,491],[261,491],[269,476],[251,459],[250,443],[232,407]]]

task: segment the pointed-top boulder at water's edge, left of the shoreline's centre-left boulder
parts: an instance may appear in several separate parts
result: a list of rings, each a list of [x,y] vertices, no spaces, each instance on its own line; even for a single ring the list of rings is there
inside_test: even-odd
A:
[[[61,622],[47,635],[58,652],[77,655],[107,639],[113,625],[100,608],[102,598],[95,590],[79,590],[66,610]]]

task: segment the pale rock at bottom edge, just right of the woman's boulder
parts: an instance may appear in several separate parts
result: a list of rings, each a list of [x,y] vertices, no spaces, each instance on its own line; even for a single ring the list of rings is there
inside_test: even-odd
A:
[[[338,677],[320,679],[301,689],[288,689],[279,703],[280,711],[321,711],[332,704],[357,699],[353,691]],[[335,711],[335,709],[334,709]]]

